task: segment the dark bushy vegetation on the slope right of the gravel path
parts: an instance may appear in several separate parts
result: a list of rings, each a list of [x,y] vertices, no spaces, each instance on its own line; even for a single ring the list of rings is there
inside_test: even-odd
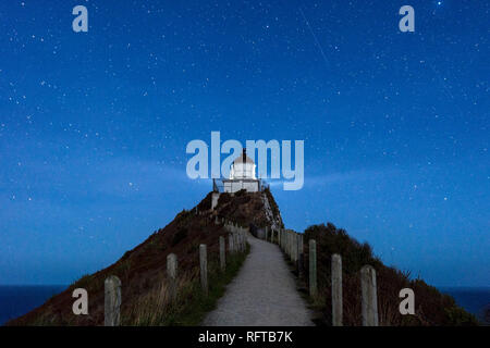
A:
[[[378,311],[380,325],[387,326],[452,326],[477,325],[474,315],[456,306],[451,296],[441,294],[437,288],[420,278],[411,279],[409,272],[402,272],[384,265],[372,254],[368,244],[351,238],[342,228],[333,224],[315,225],[305,231],[305,259],[303,268],[308,266],[309,239],[317,241],[318,296],[310,298],[321,312],[320,325],[331,325],[331,256],[342,256],[343,271],[343,321],[344,325],[360,325],[360,268],[370,264],[377,272]],[[307,277],[307,272],[304,272]],[[307,279],[305,279],[307,282]],[[399,311],[402,288],[412,288],[415,293],[415,315],[402,315]]]

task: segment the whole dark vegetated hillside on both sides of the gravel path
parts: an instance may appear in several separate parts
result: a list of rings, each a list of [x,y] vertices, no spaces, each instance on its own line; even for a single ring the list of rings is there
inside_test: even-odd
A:
[[[238,271],[246,254],[226,256],[226,273],[219,273],[219,237],[228,236],[222,219],[258,228],[283,228],[279,207],[270,192],[221,194],[218,206],[211,208],[209,192],[196,207],[183,210],[164,228],[156,231],[136,248],[126,251],[112,265],[86,275],[63,293],[52,297],[39,308],[10,321],[7,325],[102,325],[103,281],[117,275],[122,282],[121,322],[124,325],[197,325],[205,312],[210,311],[224,286]],[[333,224],[315,225],[304,232],[304,240],[317,240],[318,296],[309,298],[314,309],[321,313],[316,323],[331,325],[330,264],[331,254],[340,253],[343,263],[344,325],[360,325],[359,270],[371,264],[377,271],[380,325],[476,325],[473,315],[458,308],[452,297],[442,295],[422,279],[412,279],[409,273],[384,265],[376,258],[368,244],[359,244],[344,229]],[[198,248],[208,246],[208,270],[211,296],[199,291]],[[177,256],[177,298],[170,299],[167,287],[167,256]],[[303,276],[308,283],[308,244],[305,243]],[[72,313],[72,291],[83,287],[89,294],[89,315]],[[414,289],[416,315],[401,315],[399,291]]]

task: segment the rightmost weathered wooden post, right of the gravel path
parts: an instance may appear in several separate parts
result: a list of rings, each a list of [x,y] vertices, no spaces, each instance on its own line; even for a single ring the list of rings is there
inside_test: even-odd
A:
[[[363,326],[378,326],[376,270],[369,264],[360,269],[360,288],[363,293]]]

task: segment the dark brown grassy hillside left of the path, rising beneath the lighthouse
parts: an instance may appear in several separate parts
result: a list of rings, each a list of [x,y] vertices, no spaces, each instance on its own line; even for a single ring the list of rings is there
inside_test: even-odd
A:
[[[257,227],[274,222],[282,223],[279,211],[274,221],[270,220],[265,197],[264,192],[237,192],[234,197],[222,194],[218,207],[210,211],[210,192],[196,207],[180,212],[164,228],[156,231],[139,246],[126,251],[112,265],[83,276],[63,293],[29,313],[8,322],[7,325],[102,325],[103,281],[109,275],[117,275],[122,283],[122,324],[186,324],[180,322],[179,318],[185,316],[182,312],[186,309],[182,307],[193,303],[192,298],[198,293],[196,287],[199,276],[199,245],[206,244],[208,247],[208,269],[212,277],[218,264],[219,237],[228,236],[223,224],[216,224],[216,217],[242,224],[249,223]],[[179,262],[181,296],[177,303],[170,303],[166,297],[166,263],[167,256],[171,252],[177,256]],[[88,315],[74,315],[72,312],[72,293],[78,287],[88,291]],[[166,315],[162,315],[162,312],[166,312]],[[176,319],[173,319],[174,316]]]

